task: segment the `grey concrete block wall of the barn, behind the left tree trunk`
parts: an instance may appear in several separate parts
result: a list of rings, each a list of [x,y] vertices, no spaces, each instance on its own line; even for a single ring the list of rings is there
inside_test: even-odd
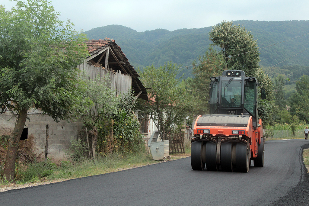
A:
[[[11,117],[12,114],[9,113],[0,115],[0,135],[8,135],[13,131],[16,118],[7,121]],[[44,157],[46,125],[49,124],[47,157],[57,160],[68,159],[66,152],[70,147],[70,140],[71,138],[77,139],[83,124],[81,122],[55,122],[47,114],[28,114],[28,118],[30,121],[26,121],[25,127],[28,128],[28,137],[30,135],[34,137],[34,152],[39,157]]]

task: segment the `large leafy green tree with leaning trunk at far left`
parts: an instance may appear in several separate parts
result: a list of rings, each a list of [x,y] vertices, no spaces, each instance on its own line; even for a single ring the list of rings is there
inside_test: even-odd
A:
[[[77,65],[87,55],[85,39],[50,4],[16,1],[11,11],[0,6],[0,108],[1,114],[4,108],[17,114],[3,171],[10,182],[28,109],[40,108],[58,121],[69,117],[78,100]]]

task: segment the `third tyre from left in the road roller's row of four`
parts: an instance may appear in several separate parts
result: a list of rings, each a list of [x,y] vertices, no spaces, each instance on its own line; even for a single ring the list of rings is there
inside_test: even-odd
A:
[[[233,171],[232,146],[231,142],[221,144],[220,163],[222,171]]]

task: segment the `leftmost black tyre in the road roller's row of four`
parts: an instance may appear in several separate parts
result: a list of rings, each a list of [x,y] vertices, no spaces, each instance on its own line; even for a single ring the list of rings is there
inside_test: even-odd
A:
[[[191,167],[192,167],[192,170],[204,170],[205,162],[202,161],[202,153],[203,153],[202,150],[203,150],[203,142],[202,141],[195,141],[191,144]]]

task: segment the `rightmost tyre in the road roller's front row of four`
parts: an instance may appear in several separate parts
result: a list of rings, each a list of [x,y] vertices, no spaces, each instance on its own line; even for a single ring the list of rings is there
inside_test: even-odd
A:
[[[250,145],[237,142],[236,145],[236,167],[239,172],[248,172],[250,164]]]

